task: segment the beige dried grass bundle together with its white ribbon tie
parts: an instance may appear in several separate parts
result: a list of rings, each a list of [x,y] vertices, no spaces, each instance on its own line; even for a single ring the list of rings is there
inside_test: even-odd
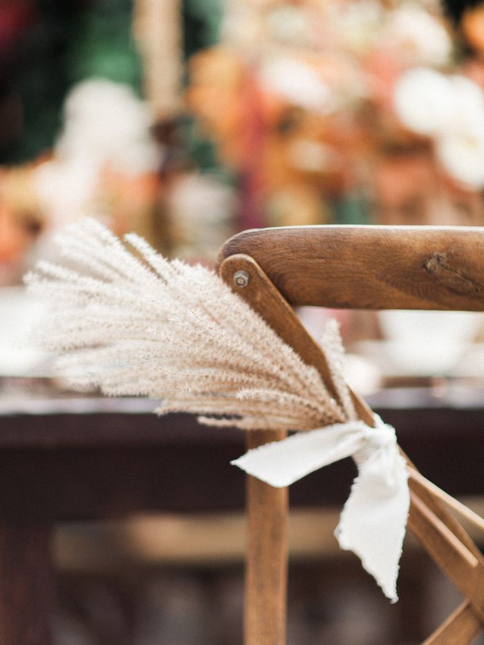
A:
[[[60,355],[62,373],[81,389],[160,398],[158,414],[191,412],[203,424],[248,431],[304,431],[234,462],[273,486],[353,456],[359,475],[337,539],[395,601],[407,467],[393,428],[357,420],[335,324],[323,348],[336,398],[211,270],[167,261],[134,234],[122,243],[92,219],[71,225],[59,244],[66,262],[40,262],[26,282],[52,304],[39,340]]]

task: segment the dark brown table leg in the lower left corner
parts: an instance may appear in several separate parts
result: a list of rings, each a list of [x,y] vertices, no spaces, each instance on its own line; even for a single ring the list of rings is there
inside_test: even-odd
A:
[[[0,526],[0,645],[50,645],[53,566],[48,526]]]

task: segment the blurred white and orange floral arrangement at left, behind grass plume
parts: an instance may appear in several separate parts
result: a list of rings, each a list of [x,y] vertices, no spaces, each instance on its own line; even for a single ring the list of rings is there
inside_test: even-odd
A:
[[[15,283],[52,234],[86,213],[149,239],[162,151],[154,114],[131,87],[102,78],[73,86],[53,150],[0,168],[0,285]],[[158,243],[159,240],[156,240]]]

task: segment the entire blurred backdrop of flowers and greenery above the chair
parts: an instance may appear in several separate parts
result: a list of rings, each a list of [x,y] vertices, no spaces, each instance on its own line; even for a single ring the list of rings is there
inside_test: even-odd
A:
[[[203,263],[248,227],[483,223],[482,15],[445,2],[4,1],[1,283],[84,215]]]

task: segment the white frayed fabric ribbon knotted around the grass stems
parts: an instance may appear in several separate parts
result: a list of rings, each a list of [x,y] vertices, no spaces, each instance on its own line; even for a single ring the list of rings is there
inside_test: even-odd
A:
[[[353,456],[353,482],[336,536],[355,552],[392,601],[398,600],[398,563],[409,512],[407,465],[395,430],[375,417],[375,427],[349,421],[299,432],[249,450],[232,464],[275,487],[288,486],[335,461]]]

